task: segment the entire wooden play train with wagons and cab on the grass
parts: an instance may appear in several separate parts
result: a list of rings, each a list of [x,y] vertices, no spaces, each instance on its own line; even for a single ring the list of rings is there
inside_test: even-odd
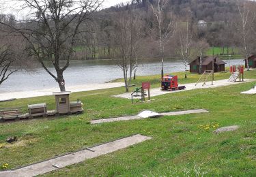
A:
[[[26,114],[22,114],[21,109],[17,108],[0,109],[0,121],[83,112],[83,103],[80,100],[70,102],[70,92],[55,92],[53,95],[55,95],[56,110],[47,110],[46,103],[28,105]]]

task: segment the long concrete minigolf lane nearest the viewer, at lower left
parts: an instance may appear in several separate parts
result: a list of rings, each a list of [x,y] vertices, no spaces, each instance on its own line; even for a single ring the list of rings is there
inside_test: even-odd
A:
[[[108,153],[114,152],[116,150],[127,148],[134,144],[144,142],[145,140],[150,140],[151,137],[144,135],[132,135],[127,138],[122,138],[102,144],[100,146],[94,146],[85,150],[80,150],[72,154],[63,155],[61,157],[56,157],[47,161],[42,161],[40,163],[35,163],[28,165],[26,167],[20,167],[16,170],[8,170],[0,172],[1,177],[10,177],[10,176],[38,176],[40,174],[45,174],[54,170],[57,170],[68,165],[73,165],[85,161],[86,159],[92,159],[100,155],[106,155]]]

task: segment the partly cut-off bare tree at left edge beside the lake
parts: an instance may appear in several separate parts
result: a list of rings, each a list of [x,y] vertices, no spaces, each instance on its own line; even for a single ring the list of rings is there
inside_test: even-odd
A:
[[[0,47],[0,85],[17,71],[15,68],[16,56],[10,46]]]

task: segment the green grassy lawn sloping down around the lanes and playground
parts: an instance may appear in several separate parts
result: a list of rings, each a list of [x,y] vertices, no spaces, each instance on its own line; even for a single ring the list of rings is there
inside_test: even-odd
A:
[[[197,74],[177,73],[180,83],[196,82]],[[256,71],[246,71],[245,78],[255,78]],[[160,86],[160,76],[139,76],[137,86],[150,81]],[[215,79],[229,78],[228,73]],[[116,80],[120,81],[120,80]],[[111,97],[124,88],[72,93],[81,99],[85,112],[80,115],[38,118],[0,124],[0,163],[18,167],[74,152],[135,133],[151,136],[142,142],[108,155],[89,159],[44,176],[255,176],[256,175],[256,95],[242,95],[255,82],[197,89],[154,97],[156,100],[131,105],[130,100]],[[131,90],[133,88],[130,88]],[[0,103],[0,108],[46,102],[55,108],[53,96],[18,99]],[[206,114],[164,116],[101,125],[89,120],[134,115],[141,110],[171,112],[203,108]],[[237,131],[214,134],[219,127],[238,125]],[[210,129],[203,129],[210,125]],[[18,142],[5,143],[9,136]],[[1,164],[0,164],[1,165]],[[200,175],[199,175],[200,176]]]

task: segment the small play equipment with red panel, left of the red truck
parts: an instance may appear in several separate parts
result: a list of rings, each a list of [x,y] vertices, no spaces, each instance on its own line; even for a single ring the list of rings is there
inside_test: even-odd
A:
[[[145,93],[147,90],[147,94]],[[139,95],[141,93],[141,95]],[[135,94],[135,95],[134,95]],[[142,82],[141,88],[135,88],[135,91],[131,93],[132,95],[132,104],[133,104],[133,97],[141,97],[139,101],[145,101],[145,96],[148,96],[148,100],[150,100],[150,82]]]

